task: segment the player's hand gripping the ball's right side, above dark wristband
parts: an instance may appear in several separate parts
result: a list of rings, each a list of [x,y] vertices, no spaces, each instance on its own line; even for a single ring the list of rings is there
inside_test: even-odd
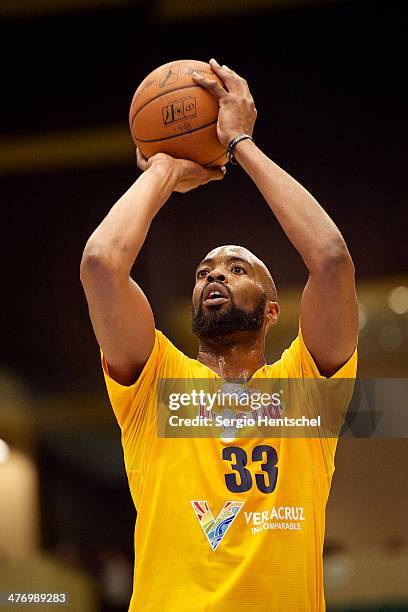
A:
[[[220,77],[224,87],[214,79],[206,79],[194,72],[197,85],[207,89],[219,103],[217,133],[221,144],[227,147],[239,134],[252,136],[256,120],[256,108],[248,83],[228,66],[220,66],[214,59],[210,66]]]

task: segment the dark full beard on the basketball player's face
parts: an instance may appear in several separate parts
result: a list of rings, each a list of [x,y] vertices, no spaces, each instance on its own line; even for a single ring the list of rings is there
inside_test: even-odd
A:
[[[258,304],[250,311],[239,308],[230,296],[230,307],[212,307],[204,312],[203,303],[196,312],[192,311],[191,329],[198,338],[227,336],[238,331],[259,331],[264,320],[264,309],[267,301],[266,293],[259,298]]]

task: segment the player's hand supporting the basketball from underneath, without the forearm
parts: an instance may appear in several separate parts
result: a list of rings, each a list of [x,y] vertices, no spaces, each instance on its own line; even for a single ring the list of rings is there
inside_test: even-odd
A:
[[[221,168],[204,168],[200,164],[187,159],[175,159],[165,153],[156,153],[149,159],[143,157],[139,149],[136,150],[137,165],[145,171],[153,166],[162,169],[166,176],[170,176],[172,191],[186,193],[210,181],[219,181],[224,178],[225,166]]]

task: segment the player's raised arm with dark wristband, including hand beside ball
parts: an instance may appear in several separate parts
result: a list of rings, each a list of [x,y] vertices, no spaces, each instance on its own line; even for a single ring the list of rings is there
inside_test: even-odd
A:
[[[218,99],[218,137],[227,146],[240,134],[252,135],[256,110],[246,81],[214,60],[223,80],[194,75]],[[330,375],[353,353],[358,335],[354,265],[344,239],[318,202],[270,160],[250,139],[241,140],[234,157],[263,194],[309,270],[301,303],[306,346],[322,374]]]

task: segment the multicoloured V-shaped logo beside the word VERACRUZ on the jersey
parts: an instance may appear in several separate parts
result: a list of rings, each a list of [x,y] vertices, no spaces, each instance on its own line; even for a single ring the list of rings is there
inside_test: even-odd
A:
[[[201,527],[213,550],[218,548],[221,540],[236,519],[245,502],[225,502],[217,518],[214,518],[206,501],[192,501]]]

